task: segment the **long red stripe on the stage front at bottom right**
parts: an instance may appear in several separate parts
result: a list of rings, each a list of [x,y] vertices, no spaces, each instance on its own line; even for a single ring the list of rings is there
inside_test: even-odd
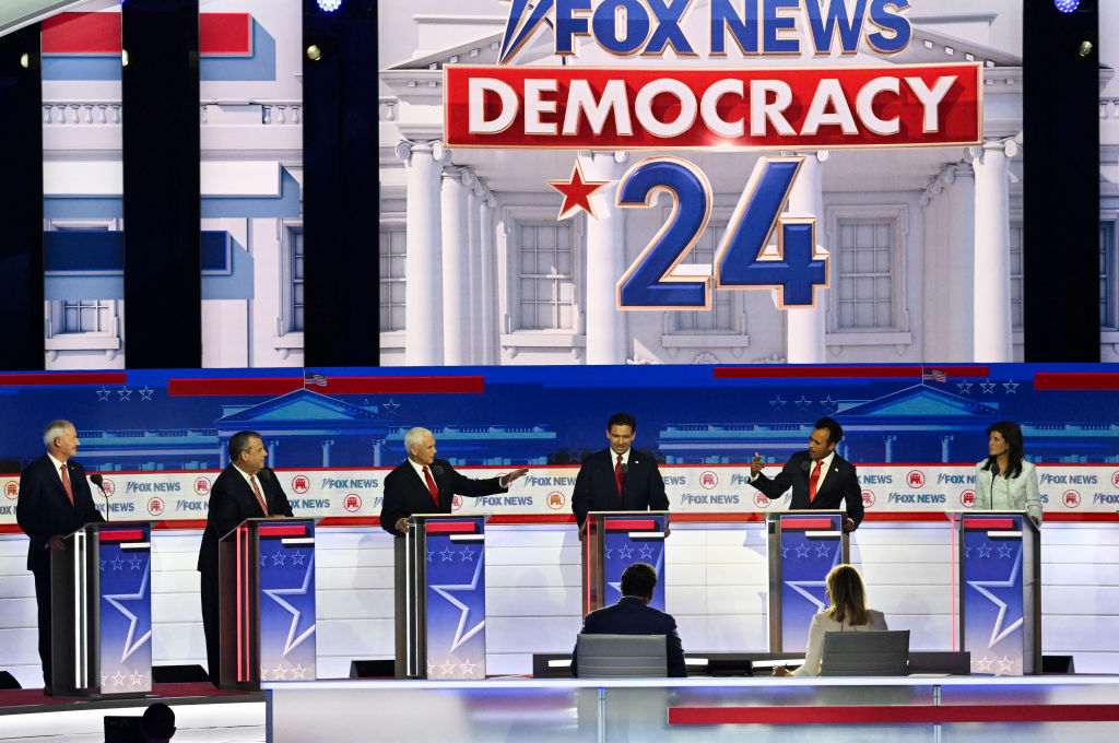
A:
[[[856,707],[669,707],[669,725],[1054,723],[1119,721],[1115,704],[882,705]]]

